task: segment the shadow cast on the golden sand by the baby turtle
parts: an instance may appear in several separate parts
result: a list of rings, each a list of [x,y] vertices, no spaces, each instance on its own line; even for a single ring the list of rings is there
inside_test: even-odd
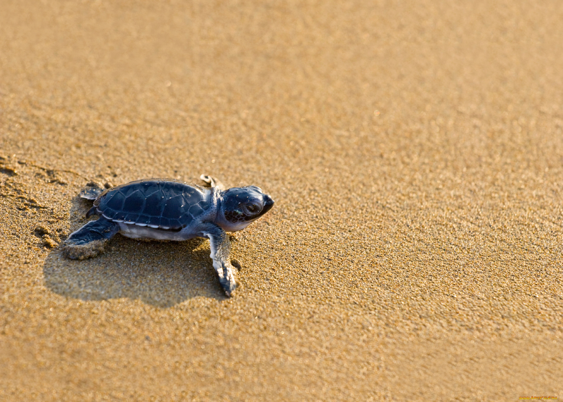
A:
[[[73,199],[71,230],[86,224],[83,217],[91,206],[91,201]],[[43,274],[51,291],[81,300],[127,297],[171,307],[196,296],[226,298],[205,239],[144,242],[117,234],[95,258],[70,260],[53,250]]]

